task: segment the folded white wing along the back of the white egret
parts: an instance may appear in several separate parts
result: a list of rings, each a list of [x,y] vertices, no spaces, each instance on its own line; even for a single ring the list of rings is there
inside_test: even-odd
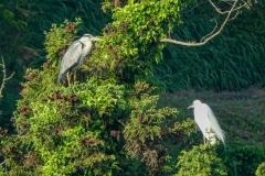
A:
[[[216,117],[214,116],[214,113],[213,113],[213,111],[211,110],[211,108],[210,108],[208,105],[205,105],[205,106],[206,106],[206,108],[208,108],[208,118],[209,118],[209,120],[210,120],[210,122],[211,122],[212,130],[214,131],[216,138],[218,138],[219,140],[221,140],[221,141],[223,142],[223,144],[224,144],[224,138],[225,138],[225,136],[224,136],[224,131],[220,128],[219,122],[218,122],[218,119],[216,119]]]

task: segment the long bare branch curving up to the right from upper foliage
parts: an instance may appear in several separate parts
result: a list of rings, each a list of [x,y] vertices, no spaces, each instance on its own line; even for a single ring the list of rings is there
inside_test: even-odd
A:
[[[230,16],[231,16],[232,12],[234,11],[234,8],[235,8],[237,1],[239,1],[239,0],[235,0],[235,1],[234,1],[233,7],[232,7],[231,10],[229,11],[229,14],[227,14],[227,16],[225,18],[223,24],[220,26],[220,29],[219,29],[215,33],[213,33],[213,32],[215,31],[215,29],[216,29],[216,26],[215,26],[210,34],[205,35],[205,36],[209,36],[209,35],[212,34],[211,36],[209,36],[209,37],[203,36],[203,37],[202,37],[201,41],[203,41],[203,42],[199,42],[199,43],[197,43],[197,42],[182,42],[182,41],[176,41],[176,40],[171,40],[171,38],[162,38],[162,40],[160,40],[160,42],[173,43],[173,44],[183,45],[183,46],[202,46],[202,45],[206,44],[209,41],[211,41],[213,37],[215,37],[216,35],[219,35],[219,34],[223,31],[223,28],[225,26],[225,24],[226,24],[227,21],[230,20]]]

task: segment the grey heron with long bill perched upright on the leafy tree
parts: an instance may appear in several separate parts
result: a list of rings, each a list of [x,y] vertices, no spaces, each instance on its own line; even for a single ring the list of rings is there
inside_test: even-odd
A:
[[[67,81],[70,85],[68,72],[75,70],[84,63],[86,56],[93,50],[93,41],[102,40],[94,37],[92,34],[84,34],[68,47],[61,63],[57,82],[67,74]]]

